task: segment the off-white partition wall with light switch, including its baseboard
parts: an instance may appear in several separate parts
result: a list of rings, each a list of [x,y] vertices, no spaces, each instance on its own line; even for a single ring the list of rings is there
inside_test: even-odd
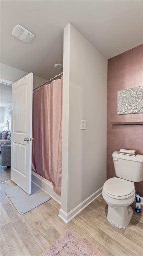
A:
[[[68,222],[106,181],[107,58],[77,29],[64,29],[62,206]],[[87,130],[80,130],[87,120]],[[74,210],[73,210],[74,209]]]

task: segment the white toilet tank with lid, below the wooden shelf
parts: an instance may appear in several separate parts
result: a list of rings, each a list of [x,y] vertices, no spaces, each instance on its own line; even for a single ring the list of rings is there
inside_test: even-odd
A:
[[[128,156],[115,151],[112,158],[117,177],[133,182],[143,180],[143,155]]]

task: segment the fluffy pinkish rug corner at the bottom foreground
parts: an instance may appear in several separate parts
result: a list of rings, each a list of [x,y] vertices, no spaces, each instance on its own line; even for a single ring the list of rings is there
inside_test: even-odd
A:
[[[74,229],[69,229],[41,256],[103,256]]]

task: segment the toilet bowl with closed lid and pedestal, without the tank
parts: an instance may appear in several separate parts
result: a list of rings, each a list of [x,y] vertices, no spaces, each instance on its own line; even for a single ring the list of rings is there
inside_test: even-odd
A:
[[[104,183],[102,195],[108,204],[107,220],[119,228],[125,228],[133,214],[130,204],[135,198],[134,182],[111,178]]]

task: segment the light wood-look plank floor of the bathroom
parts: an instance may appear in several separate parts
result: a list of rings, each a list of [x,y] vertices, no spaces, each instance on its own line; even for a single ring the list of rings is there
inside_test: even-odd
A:
[[[53,199],[20,215],[5,194],[5,188],[14,185],[0,184],[0,256],[39,256],[70,227],[105,256],[143,256],[142,214],[134,211],[125,229],[113,227],[99,196],[68,224],[58,217],[60,205]]]

